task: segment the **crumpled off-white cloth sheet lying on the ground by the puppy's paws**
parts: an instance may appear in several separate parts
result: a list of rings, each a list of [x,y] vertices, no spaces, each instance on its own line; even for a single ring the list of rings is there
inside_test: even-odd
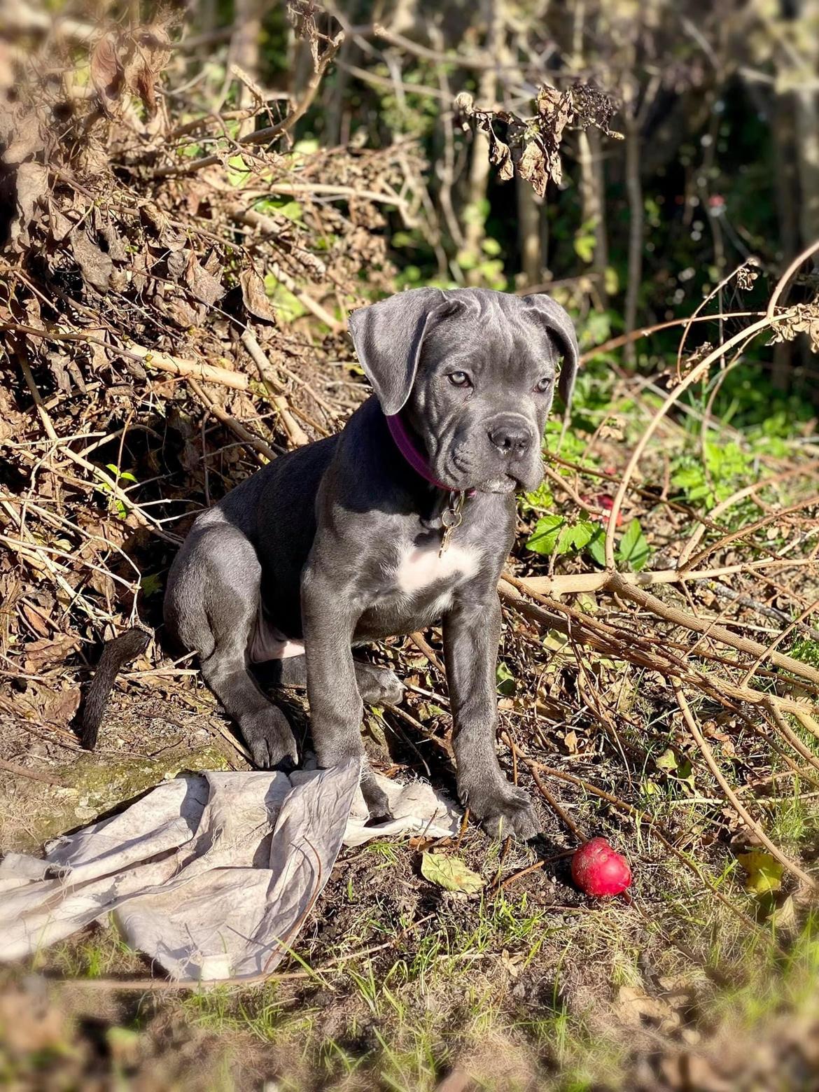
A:
[[[366,826],[359,765],[185,774],[124,811],[0,863],[0,959],[31,954],[112,913],[173,978],[263,975],[290,950],[342,846],[453,834],[429,785],[379,778],[393,819]]]

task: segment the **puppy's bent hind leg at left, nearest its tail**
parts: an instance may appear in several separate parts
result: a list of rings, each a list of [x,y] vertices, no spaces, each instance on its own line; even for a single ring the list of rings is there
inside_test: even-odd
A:
[[[298,755],[287,717],[248,669],[260,580],[261,566],[247,537],[218,515],[205,518],[171,569],[165,619],[180,643],[199,653],[202,676],[239,725],[254,764],[289,770]]]

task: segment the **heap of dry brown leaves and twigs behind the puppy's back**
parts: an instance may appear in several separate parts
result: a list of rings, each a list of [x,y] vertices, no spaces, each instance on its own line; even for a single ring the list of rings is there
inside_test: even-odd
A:
[[[197,510],[364,396],[344,319],[392,284],[424,163],[240,146],[252,111],[214,112],[173,15],[26,34],[0,41],[0,712],[64,725],[66,656],[140,589],[150,613]]]

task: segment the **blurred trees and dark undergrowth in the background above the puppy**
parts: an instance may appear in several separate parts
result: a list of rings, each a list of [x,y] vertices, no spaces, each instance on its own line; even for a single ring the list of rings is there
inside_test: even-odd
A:
[[[328,10],[319,26],[332,36],[341,25],[345,38],[296,139],[308,147],[419,142],[427,168],[408,179],[414,215],[406,223],[394,212],[387,228],[397,287],[557,290],[591,346],[689,316],[704,297],[712,312],[758,310],[770,278],[819,237],[819,12],[809,0],[401,0]],[[253,95],[225,76],[232,64],[262,88],[304,99],[311,47],[294,37],[284,5],[211,2],[192,22],[205,40],[227,43],[205,66],[225,103]],[[501,180],[486,133],[463,121],[456,99],[468,92],[476,109],[525,118],[544,84],[591,84],[616,112],[610,134],[567,126],[561,180],[538,197],[518,171]],[[731,280],[748,259],[762,276]],[[722,323],[726,334],[736,329]],[[703,336],[692,331],[690,346]],[[627,344],[625,361],[656,371],[678,343],[673,328]],[[723,384],[717,415],[767,420],[770,431],[809,416],[817,366],[807,339],[753,363]]]

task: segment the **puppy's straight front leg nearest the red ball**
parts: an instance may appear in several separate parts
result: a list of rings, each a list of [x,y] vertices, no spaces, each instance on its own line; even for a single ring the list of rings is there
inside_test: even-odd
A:
[[[458,795],[494,838],[527,839],[539,829],[532,803],[507,780],[495,750],[499,640],[500,602],[494,591],[485,601],[455,601],[444,618]]]

